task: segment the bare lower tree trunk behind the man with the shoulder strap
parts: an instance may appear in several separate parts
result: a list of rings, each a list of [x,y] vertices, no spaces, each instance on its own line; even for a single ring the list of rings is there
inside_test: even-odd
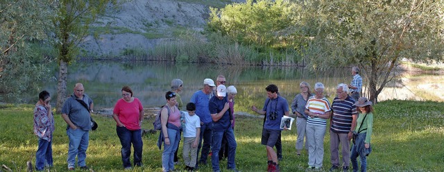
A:
[[[62,112],[63,103],[67,98],[68,62],[60,60],[57,85],[57,112]]]

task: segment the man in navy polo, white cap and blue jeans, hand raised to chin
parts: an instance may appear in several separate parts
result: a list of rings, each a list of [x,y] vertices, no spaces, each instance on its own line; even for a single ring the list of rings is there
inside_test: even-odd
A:
[[[221,171],[221,169],[219,169],[219,150],[221,150],[224,136],[228,142],[228,169],[237,171],[236,164],[234,164],[237,144],[233,129],[231,128],[232,116],[230,115],[230,105],[228,104],[226,95],[225,85],[219,85],[216,89],[216,95],[210,99],[210,113],[213,119],[213,154],[211,157],[213,171]]]

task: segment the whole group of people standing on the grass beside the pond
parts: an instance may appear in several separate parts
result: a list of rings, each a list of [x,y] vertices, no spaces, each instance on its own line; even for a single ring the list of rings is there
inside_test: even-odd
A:
[[[360,97],[362,79],[359,69],[352,68],[354,78],[350,85],[339,84],[336,87],[336,97],[332,104],[327,101],[323,92],[323,83],[315,83],[314,94],[310,85],[300,83],[300,94],[291,102],[292,114],[296,115],[297,135],[296,155],[302,154],[304,147],[308,151],[308,169],[318,170],[323,166],[323,139],[330,121],[330,151],[332,167],[330,171],[342,168],[348,171],[350,160],[353,171],[359,169],[357,157],[361,160],[361,171],[366,171],[366,156],[371,152],[370,138],[373,129],[372,102]],[[183,131],[183,160],[186,171],[198,169],[199,164],[207,164],[211,154],[213,171],[221,171],[219,161],[228,159],[227,169],[237,171],[234,159],[237,142],[234,137],[234,96],[237,89],[231,85],[225,87],[225,77],[219,75],[214,80],[205,78],[203,88],[195,92],[186,105],[186,111],[181,111],[184,103],[179,92],[182,91],[182,80],[171,82],[171,91],[165,93],[167,100],[160,112],[162,129],[158,146],[163,143],[162,171],[175,171],[178,162],[177,151]],[[74,92],[62,107],[62,118],[67,123],[69,148],[67,168],[74,170],[89,169],[86,165],[86,150],[89,143],[89,130],[94,128],[91,112],[94,103],[84,94],[82,83],[76,83]],[[280,96],[278,86],[266,87],[267,98],[262,110],[253,105],[251,109],[264,115],[261,143],[266,146],[268,159],[267,171],[280,171],[279,160],[282,158],[280,127],[282,117],[289,116],[287,100]],[[122,98],[114,106],[112,117],[116,121],[117,136],[121,141],[121,158],[124,169],[132,166],[142,166],[142,121],[144,108],[138,98],[133,97],[133,91],[125,86],[121,89]],[[52,133],[54,118],[49,101],[49,92],[42,91],[34,110],[34,132],[39,137],[36,152],[35,169],[42,171],[53,165]],[[350,150],[350,140],[353,146]],[[130,162],[130,149],[133,145],[133,165]],[[341,145],[342,162],[339,163],[339,145]],[[273,147],[276,147],[278,153]],[[211,150],[211,153],[210,153]],[[200,157],[199,157],[200,153]]]

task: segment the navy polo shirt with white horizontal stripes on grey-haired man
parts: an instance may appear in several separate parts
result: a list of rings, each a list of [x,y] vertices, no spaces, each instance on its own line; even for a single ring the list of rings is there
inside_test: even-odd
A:
[[[352,128],[353,115],[357,115],[355,100],[347,96],[345,100],[334,98],[332,103],[332,125],[330,130],[338,133],[348,133]]]

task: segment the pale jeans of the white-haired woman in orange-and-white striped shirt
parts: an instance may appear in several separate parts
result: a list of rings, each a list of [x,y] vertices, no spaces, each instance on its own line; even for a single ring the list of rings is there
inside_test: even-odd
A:
[[[324,158],[325,126],[307,123],[305,134],[308,142],[308,165],[321,168]]]

